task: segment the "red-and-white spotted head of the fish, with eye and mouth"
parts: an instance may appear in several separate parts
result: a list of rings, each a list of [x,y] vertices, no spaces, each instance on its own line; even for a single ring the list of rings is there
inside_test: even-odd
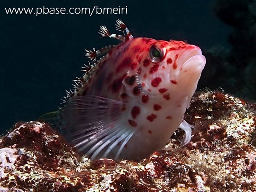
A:
[[[144,99],[157,102],[186,98],[188,106],[206,62],[201,49],[183,41],[151,38],[135,38],[130,47],[128,55],[138,64],[124,81],[127,84],[130,77],[136,81],[132,88],[126,85],[128,94],[137,96],[139,92]]]

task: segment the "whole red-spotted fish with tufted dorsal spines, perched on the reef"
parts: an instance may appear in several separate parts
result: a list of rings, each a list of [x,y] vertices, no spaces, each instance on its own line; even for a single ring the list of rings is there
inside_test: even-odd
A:
[[[172,134],[193,125],[183,118],[206,60],[201,49],[184,41],[134,38],[122,20],[113,34],[100,37],[117,45],[85,50],[89,63],[64,105],[53,114],[68,143],[91,159],[142,160],[164,148]]]

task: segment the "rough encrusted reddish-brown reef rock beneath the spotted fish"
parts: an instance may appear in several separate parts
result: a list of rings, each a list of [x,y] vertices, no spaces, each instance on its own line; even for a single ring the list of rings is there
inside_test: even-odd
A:
[[[256,104],[197,92],[162,151],[133,162],[82,157],[45,122],[18,122],[0,139],[1,192],[256,191]],[[154,141],[152,141],[154,142]]]

